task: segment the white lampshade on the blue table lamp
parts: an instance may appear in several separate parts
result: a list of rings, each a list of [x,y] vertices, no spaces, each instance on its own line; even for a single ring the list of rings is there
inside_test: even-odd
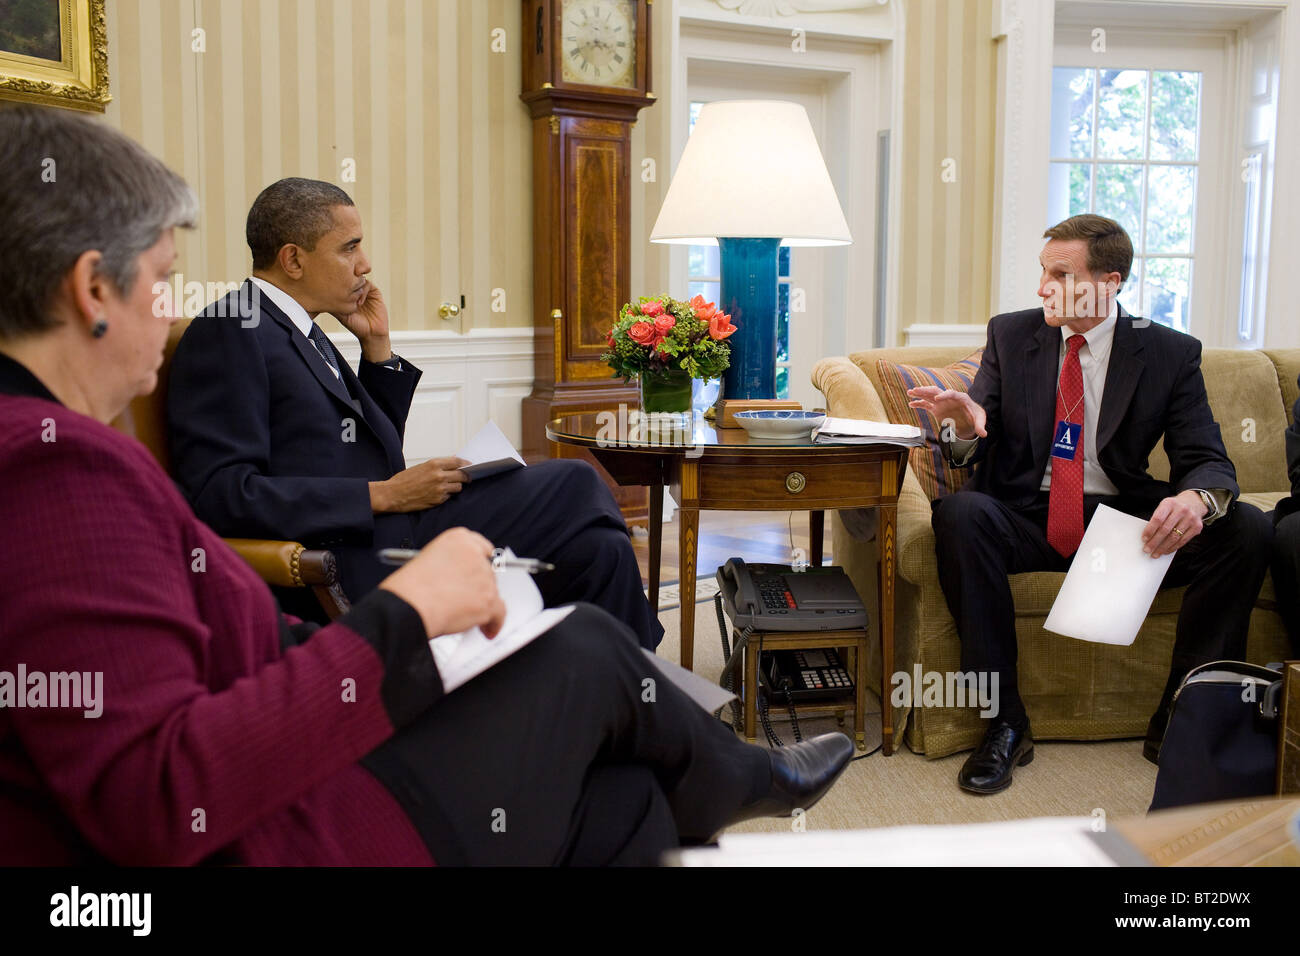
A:
[[[809,114],[798,103],[706,103],[686,140],[651,242],[779,238],[853,242]]]

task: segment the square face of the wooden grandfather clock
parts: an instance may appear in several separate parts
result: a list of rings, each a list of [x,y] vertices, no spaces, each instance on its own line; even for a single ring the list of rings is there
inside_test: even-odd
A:
[[[567,0],[560,16],[564,82],[634,87],[636,34],[636,0]]]

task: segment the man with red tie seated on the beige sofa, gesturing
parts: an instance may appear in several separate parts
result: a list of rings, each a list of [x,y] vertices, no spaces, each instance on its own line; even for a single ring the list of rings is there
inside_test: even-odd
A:
[[[911,389],[911,405],[942,423],[962,489],[935,502],[939,580],[962,641],[962,667],[997,674],[998,713],[957,782],[974,793],[1011,786],[1034,760],[1017,687],[1009,574],[1063,571],[1097,505],[1149,519],[1143,550],[1174,553],[1161,584],[1188,585],[1165,693],[1147,730],[1152,762],[1174,691],[1188,670],[1240,659],[1269,561],[1265,515],[1236,501],[1201,378],[1201,343],[1128,315],[1117,297],[1132,243],[1123,228],[1072,216],[1044,233],[1043,308],[988,324],[970,393]],[[1164,437],[1169,481],[1147,472]]]

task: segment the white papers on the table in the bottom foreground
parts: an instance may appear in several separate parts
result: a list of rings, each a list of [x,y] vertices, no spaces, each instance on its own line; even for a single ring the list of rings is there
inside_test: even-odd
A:
[[[1115,866],[1091,817],[896,826],[798,834],[723,834],[684,849],[682,866]]]

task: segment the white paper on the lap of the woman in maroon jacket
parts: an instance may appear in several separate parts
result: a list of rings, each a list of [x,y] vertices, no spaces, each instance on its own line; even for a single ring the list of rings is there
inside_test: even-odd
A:
[[[507,558],[515,554],[508,548]],[[447,633],[429,641],[442,689],[451,693],[467,680],[478,676],[494,663],[506,659],[526,644],[564,620],[573,606],[542,609],[542,593],[528,571],[497,571],[497,591],[506,604],[506,623],[500,633],[488,639],[477,627],[460,633]]]

